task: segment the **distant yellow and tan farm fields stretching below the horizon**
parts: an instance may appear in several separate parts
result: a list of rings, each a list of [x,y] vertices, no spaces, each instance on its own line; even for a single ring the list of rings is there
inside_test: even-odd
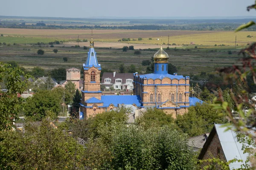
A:
[[[75,41],[79,35],[79,39],[90,39],[91,30],[49,30],[49,29],[16,29],[16,28],[0,28],[0,42],[6,43],[36,43],[50,42],[52,40]],[[169,43],[176,45],[190,44],[194,42],[196,45],[234,45],[237,36],[237,44],[247,45],[256,41],[255,31],[172,31],[172,30],[94,30],[93,38],[99,42],[117,42],[122,38],[130,38],[136,41],[128,43],[135,44],[161,44]],[[247,38],[247,35],[252,36]],[[141,37],[143,40],[138,41]],[[152,38],[152,40],[148,40]],[[159,40],[157,40],[159,39]],[[123,42],[122,42],[123,43]],[[126,43],[126,42],[125,42]],[[100,45],[100,43],[99,43]],[[121,45],[122,46],[122,45]],[[99,46],[100,47],[100,46]]]

